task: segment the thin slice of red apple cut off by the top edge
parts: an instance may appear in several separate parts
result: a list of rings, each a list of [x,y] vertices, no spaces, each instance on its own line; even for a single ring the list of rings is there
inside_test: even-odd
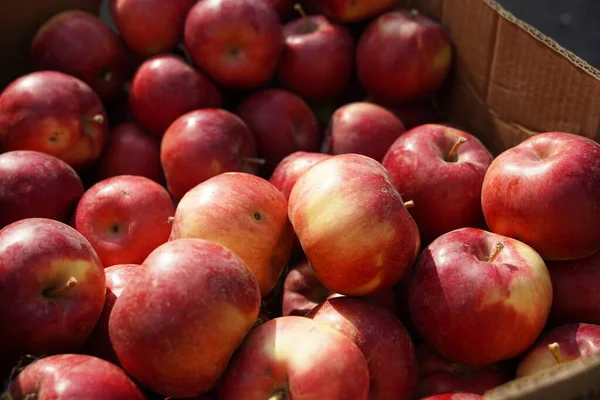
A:
[[[398,5],[394,0],[312,0],[325,15],[342,22],[358,22],[375,17]]]

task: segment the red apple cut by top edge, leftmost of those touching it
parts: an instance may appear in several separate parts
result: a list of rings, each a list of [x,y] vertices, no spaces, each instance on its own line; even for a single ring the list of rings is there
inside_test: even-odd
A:
[[[142,57],[173,50],[197,0],[110,0],[112,19],[127,46]]]

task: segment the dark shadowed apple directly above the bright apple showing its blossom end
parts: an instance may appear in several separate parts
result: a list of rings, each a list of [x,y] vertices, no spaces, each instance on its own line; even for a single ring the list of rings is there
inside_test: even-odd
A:
[[[98,180],[136,175],[160,184],[165,181],[160,164],[160,141],[135,123],[124,123],[112,129],[96,168]]]

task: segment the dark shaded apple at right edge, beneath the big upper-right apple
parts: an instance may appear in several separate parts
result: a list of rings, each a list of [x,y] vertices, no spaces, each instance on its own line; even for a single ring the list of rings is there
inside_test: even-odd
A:
[[[600,325],[600,251],[580,260],[548,261],[546,265],[554,293],[550,322]]]

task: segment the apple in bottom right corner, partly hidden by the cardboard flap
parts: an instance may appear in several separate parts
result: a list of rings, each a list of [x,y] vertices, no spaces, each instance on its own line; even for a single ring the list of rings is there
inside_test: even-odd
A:
[[[517,377],[538,374],[558,365],[548,345],[557,343],[562,362],[589,357],[600,351],[600,325],[566,324],[546,331],[527,351],[517,368]]]

